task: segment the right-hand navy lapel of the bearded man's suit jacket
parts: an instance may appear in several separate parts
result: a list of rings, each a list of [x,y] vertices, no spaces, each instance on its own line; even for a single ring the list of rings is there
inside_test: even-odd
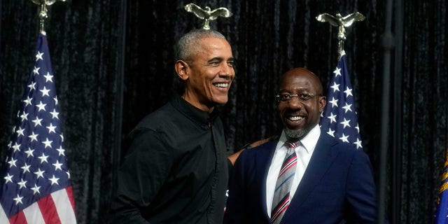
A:
[[[302,181],[297,186],[297,190],[285,216],[288,216],[290,213],[293,214],[300,207],[319,181],[321,181],[325,172],[330,168],[336,158],[336,152],[332,150],[334,144],[335,141],[327,138],[325,134],[321,134],[308,167],[302,177]]]

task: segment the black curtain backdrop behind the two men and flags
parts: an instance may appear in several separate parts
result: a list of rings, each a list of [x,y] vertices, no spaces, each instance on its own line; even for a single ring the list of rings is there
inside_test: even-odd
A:
[[[393,3],[391,77],[381,36],[386,1],[85,0],[49,7],[46,31],[63,122],[78,223],[104,223],[125,135],[174,93],[174,43],[202,22],[183,6],[229,8],[218,18],[237,59],[221,107],[229,153],[279,131],[274,93],[281,73],[305,66],[328,87],[337,64],[337,28],[321,13],[365,15],[346,29],[344,49],[363,150],[378,183],[381,99],[388,108],[385,211],[390,223],[430,223],[448,148],[448,3]],[[0,1],[0,165],[34,64],[38,6]],[[3,174],[2,174],[3,175]],[[3,177],[3,176],[2,176]],[[3,181],[3,178],[1,179]]]

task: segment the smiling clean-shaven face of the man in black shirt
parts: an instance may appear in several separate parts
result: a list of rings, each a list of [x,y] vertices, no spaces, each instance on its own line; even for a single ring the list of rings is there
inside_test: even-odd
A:
[[[190,61],[178,60],[176,71],[186,82],[183,99],[202,111],[228,101],[228,91],[235,78],[232,48],[223,38],[200,38]]]

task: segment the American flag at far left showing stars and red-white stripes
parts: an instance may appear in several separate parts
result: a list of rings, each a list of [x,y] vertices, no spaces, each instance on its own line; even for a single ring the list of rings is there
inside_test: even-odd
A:
[[[47,38],[32,69],[2,169],[0,223],[76,223]]]

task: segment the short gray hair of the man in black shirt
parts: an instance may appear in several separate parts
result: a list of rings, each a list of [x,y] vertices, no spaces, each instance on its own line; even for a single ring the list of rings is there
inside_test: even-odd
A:
[[[181,37],[177,43],[176,60],[190,62],[200,48],[197,48],[198,41],[202,38],[223,38],[225,36],[213,29],[193,29]]]

